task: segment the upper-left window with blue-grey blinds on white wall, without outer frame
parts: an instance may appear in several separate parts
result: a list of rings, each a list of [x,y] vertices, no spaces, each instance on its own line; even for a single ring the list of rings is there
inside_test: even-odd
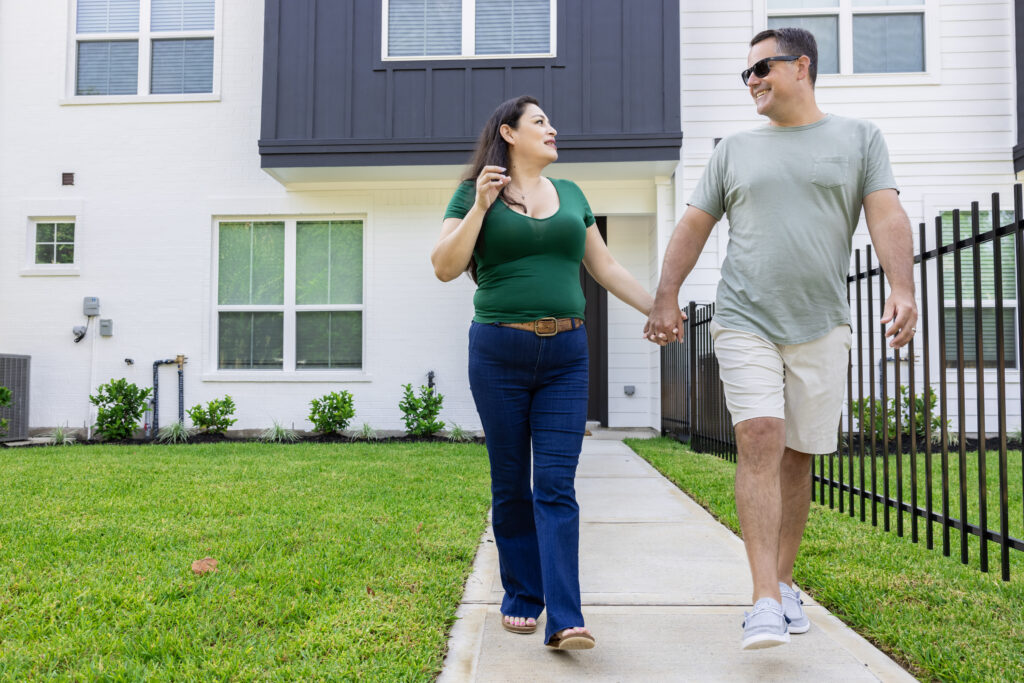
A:
[[[213,92],[215,0],[77,0],[75,94]]]

